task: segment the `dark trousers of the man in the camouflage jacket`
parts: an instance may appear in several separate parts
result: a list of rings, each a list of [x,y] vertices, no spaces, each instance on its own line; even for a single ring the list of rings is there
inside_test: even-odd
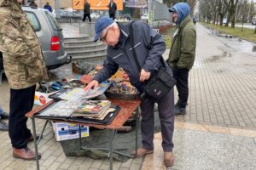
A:
[[[10,89],[9,102],[9,138],[15,149],[27,147],[32,135],[26,127],[26,112],[31,111],[34,104],[36,85],[30,88]]]

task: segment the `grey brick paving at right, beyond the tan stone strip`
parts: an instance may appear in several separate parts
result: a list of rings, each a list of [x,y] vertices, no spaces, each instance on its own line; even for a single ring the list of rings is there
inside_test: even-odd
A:
[[[189,71],[189,105],[180,122],[256,129],[256,53],[240,52],[197,29],[195,65]],[[238,41],[238,40],[237,40]],[[256,45],[256,44],[254,44]],[[176,93],[177,94],[177,93]]]

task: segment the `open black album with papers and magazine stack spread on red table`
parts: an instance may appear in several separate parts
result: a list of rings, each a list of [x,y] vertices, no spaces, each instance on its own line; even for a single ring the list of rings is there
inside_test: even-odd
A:
[[[38,118],[76,121],[92,124],[109,124],[119,113],[118,105],[111,105],[109,100],[91,100],[104,94],[110,83],[102,83],[98,88],[84,92],[84,88],[63,89],[51,95],[55,103],[35,115]]]

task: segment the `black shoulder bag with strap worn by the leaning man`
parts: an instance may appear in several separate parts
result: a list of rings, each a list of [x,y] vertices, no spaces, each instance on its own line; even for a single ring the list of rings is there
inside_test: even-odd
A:
[[[134,39],[133,39],[133,30],[132,30],[133,22],[130,26],[130,38],[131,38],[131,46],[133,52],[133,58],[135,59],[137,69],[141,72],[142,67],[139,65],[137,60],[137,54],[135,52],[134,47]],[[148,96],[153,99],[162,99],[168,94],[168,92],[174,87],[176,84],[176,80],[172,75],[170,75],[165,68],[165,63],[163,57],[161,57],[160,62],[162,66],[156,71],[153,75],[151,74],[148,81],[145,82],[145,86],[143,88],[143,94],[141,94],[141,99]]]

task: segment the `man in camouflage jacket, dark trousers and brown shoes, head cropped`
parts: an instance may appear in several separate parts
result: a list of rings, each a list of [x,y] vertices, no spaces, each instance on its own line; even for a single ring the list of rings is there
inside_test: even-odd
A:
[[[32,133],[26,127],[26,112],[32,110],[36,83],[47,79],[47,71],[38,37],[26,19],[23,0],[0,0],[0,51],[10,86],[9,137],[13,156],[35,159],[27,148]]]

